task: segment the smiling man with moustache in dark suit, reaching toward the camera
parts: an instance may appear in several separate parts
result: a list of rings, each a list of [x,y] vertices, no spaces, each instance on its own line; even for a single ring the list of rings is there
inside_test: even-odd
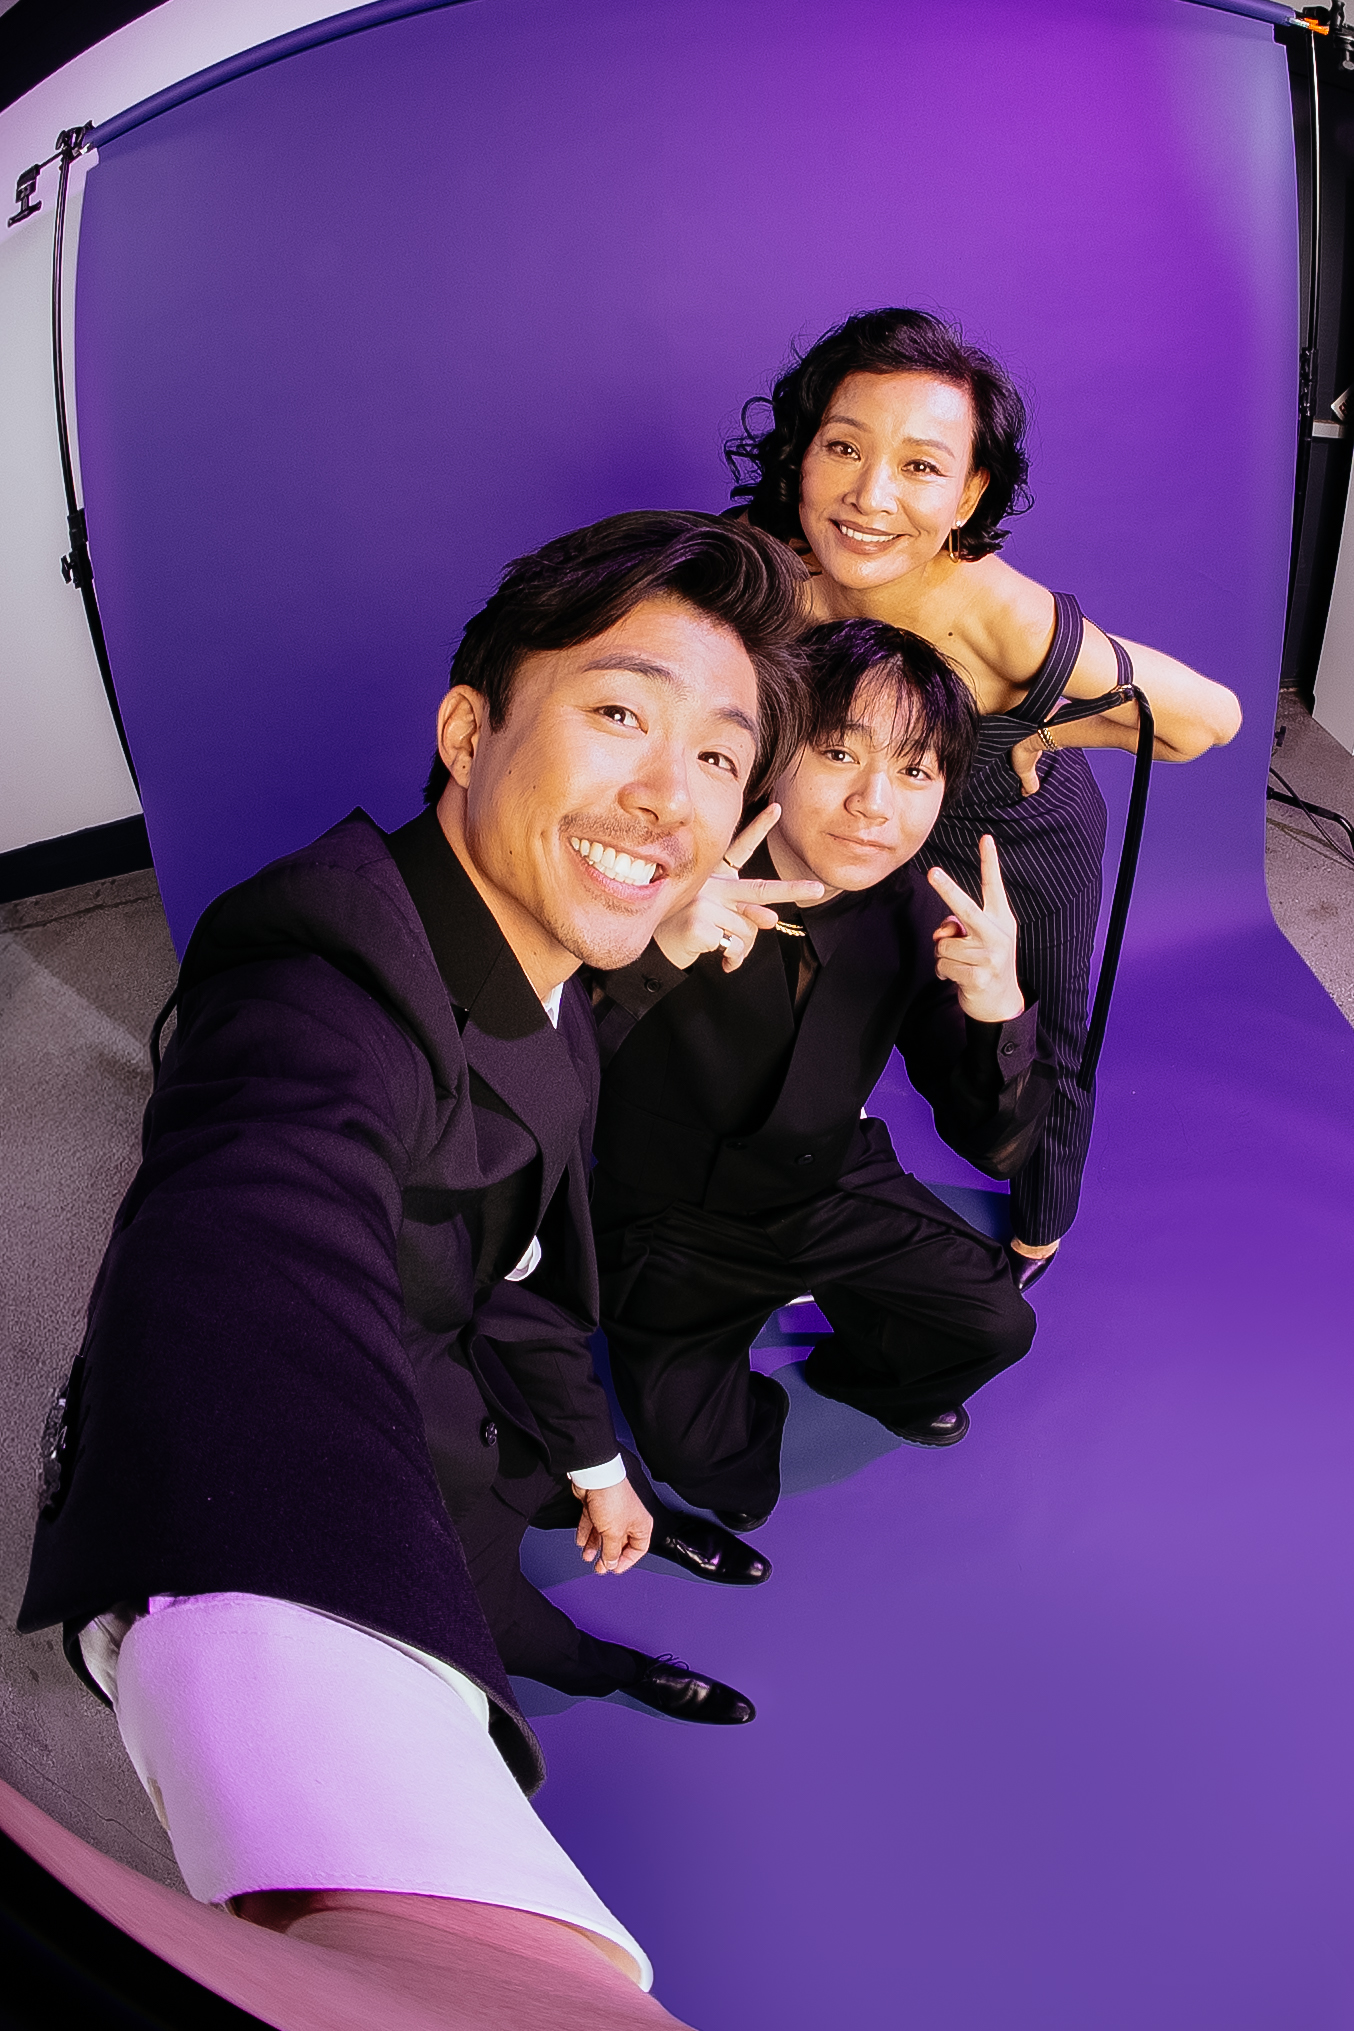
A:
[[[520,1598],[495,1647],[453,1517],[497,1570],[495,1483],[570,1479],[599,1566],[650,1544],[587,1347],[599,1070],[572,975],[625,969],[784,766],[796,605],[798,565],[706,516],[522,559],[457,654],[436,806],[392,837],[353,812],[193,934],[20,1629],[63,1623],[199,1899],[276,1925],[349,1899],[367,1942],[394,1905],[424,1940],[503,1907],[648,1986],[522,1795],[544,1769],[503,1663],[554,1641],[585,1690],[737,1696],[570,1653],[554,1609],[514,1655]]]

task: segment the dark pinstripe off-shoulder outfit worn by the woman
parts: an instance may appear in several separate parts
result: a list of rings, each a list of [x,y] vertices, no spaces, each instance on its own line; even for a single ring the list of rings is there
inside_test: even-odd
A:
[[[1086,1040],[1090,953],[1100,914],[1104,798],[1086,756],[1066,747],[1039,764],[1037,796],[1023,796],[1011,747],[1047,719],[1082,650],[1082,609],[1054,593],[1054,642],[1019,711],[989,713],[962,796],[948,806],[918,853],[970,896],[983,894],[978,839],[991,833],[1015,912],[1015,965],[1025,1001],[1039,1003],[1039,1056],[1058,1068],[1043,1141],[1011,1180],[1011,1231],[1031,1245],[1058,1241],[1076,1219],[1090,1148],[1094,1091],[1076,1068]],[[1119,680],[1131,682],[1127,650],[1114,642]]]

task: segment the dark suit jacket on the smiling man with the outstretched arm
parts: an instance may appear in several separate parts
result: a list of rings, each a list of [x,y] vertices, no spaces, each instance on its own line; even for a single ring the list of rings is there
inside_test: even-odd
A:
[[[587,1347],[593,1016],[570,983],[550,1028],[432,814],[394,845],[432,938],[361,812],[193,934],[20,1629],[65,1623],[81,1669],[122,1600],[327,1609],[477,1680],[532,1787],[420,1389],[447,1379],[483,1485],[485,1407],[564,1466],[617,1450]],[[536,1229],[540,1271],[495,1284]]]

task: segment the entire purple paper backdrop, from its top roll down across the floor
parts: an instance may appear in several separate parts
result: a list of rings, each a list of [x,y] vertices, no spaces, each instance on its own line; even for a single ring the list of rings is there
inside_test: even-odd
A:
[[[1011,559],[1248,721],[1157,772],[1033,1357],[942,1456],[796,1387],[753,1596],[570,1582],[761,1712],[546,1716],[544,1814],[702,2031],[1344,2031],[1354,1050],[1263,888],[1297,353],[1267,28],[479,0],[108,146],[81,457],[171,922],[355,802],[408,816],[503,561],[721,506],[788,341],[887,301],[1033,390]],[[972,1182],[901,1083],[881,1111]]]

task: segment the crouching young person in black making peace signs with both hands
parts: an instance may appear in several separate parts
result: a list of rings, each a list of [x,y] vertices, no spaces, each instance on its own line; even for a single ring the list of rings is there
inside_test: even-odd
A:
[[[713,879],[658,936],[723,957],[639,1028],[603,1018],[619,1048],[593,1225],[617,1397],[650,1468],[735,1529],[780,1495],[790,1399],[747,1363],[777,1306],[808,1290],[834,1328],[806,1363],[814,1389],[924,1446],[956,1444],[964,1399],[1033,1338],[1003,1249],[865,1119],[895,1048],[989,1176],[1025,1162],[1047,1107],[993,841],[978,902],[909,865],[962,784],[974,707],[944,656],[881,621],[808,646],[814,725],[747,871],[816,877],[822,900],[767,932]]]

